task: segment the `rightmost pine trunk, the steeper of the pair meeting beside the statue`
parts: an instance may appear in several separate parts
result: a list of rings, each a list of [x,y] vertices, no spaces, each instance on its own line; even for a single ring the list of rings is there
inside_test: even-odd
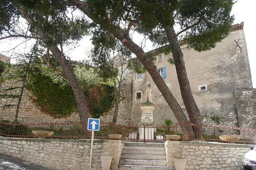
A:
[[[170,43],[170,48],[173,53],[177,77],[180,85],[181,96],[188,113],[189,122],[196,125],[202,125],[201,114],[195,102],[194,96],[191,92],[191,88],[187,78],[185,62],[183,59],[183,53],[181,51],[181,47],[176,36],[174,27],[164,26],[164,30],[166,32],[168,41]],[[202,129],[200,127],[193,129],[196,138],[200,138],[202,135]]]

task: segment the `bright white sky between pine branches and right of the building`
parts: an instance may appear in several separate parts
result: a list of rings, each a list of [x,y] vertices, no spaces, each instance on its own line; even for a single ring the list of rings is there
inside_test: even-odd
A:
[[[238,0],[236,4],[234,4],[231,14],[234,15],[234,23],[241,23],[244,22],[244,33],[245,39],[247,44],[247,51],[249,56],[250,62],[250,69],[251,69],[251,77],[252,77],[252,84],[253,87],[256,88],[256,34],[255,34],[255,16],[256,16],[256,9],[255,9],[256,1],[255,0]],[[134,41],[139,43],[143,37],[139,35],[134,35]],[[0,41],[0,53],[9,56],[9,54],[3,53],[3,51],[10,50],[12,47],[16,46],[18,43],[22,41],[20,40],[5,40]],[[24,46],[17,49],[15,52],[23,53]],[[92,47],[90,42],[90,37],[84,37],[78,44],[75,49],[67,49],[65,53],[71,57],[72,60],[84,60],[87,58],[87,52]],[[146,44],[147,48],[144,48],[144,51],[150,51],[153,49],[151,43],[148,41]],[[12,61],[14,62],[14,60]]]

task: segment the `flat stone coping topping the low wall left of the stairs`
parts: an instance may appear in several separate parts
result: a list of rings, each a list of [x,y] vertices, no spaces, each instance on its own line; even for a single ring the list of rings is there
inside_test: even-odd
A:
[[[8,141],[32,141],[32,142],[91,142],[91,139],[39,139],[39,138],[11,138],[11,137],[2,137],[0,140],[8,140]],[[122,140],[102,140],[102,139],[94,139],[94,143],[103,143],[103,142],[120,142],[123,143]]]

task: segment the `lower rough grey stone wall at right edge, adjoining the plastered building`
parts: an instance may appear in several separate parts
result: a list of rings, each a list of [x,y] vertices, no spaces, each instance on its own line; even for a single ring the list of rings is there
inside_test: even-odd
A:
[[[235,91],[238,112],[238,124],[243,128],[256,128],[256,89]]]

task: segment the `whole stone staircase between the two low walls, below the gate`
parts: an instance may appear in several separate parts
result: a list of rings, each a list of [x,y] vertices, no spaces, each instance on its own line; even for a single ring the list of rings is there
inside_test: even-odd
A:
[[[119,170],[169,170],[164,143],[124,142]]]

